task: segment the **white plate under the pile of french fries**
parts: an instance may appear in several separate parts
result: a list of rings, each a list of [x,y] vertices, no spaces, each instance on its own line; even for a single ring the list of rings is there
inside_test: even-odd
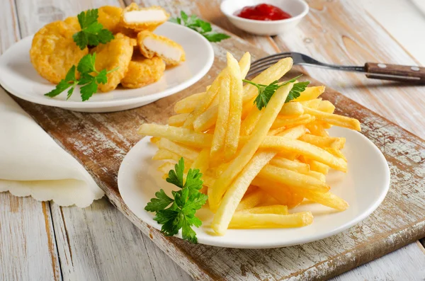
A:
[[[378,147],[369,139],[352,130],[332,127],[331,135],[346,137],[344,154],[348,159],[348,173],[329,172],[327,182],[332,193],[344,198],[350,205],[344,212],[312,202],[303,202],[290,212],[310,210],[314,216],[309,226],[294,229],[228,229],[225,236],[214,236],[208,227],[212,213],[203,208],[197,216],[203,226],[195,228],[198,243],[229,248],[277,248],[324,239],[358,224],[368,217],[384,200],[390,187],[390,169]],[[160,188],[167,194],[176,190],[162,179],[157,167],[162,161],[153,161],[157,151],[149,137],[138,142],[125,156],[118,172],[118,188],[126,205],[143,222],[161,229],[153,220],[154,214],[144,210],[147,202]],[[174,188],[173,188],[174,187]],[[178,235],[181,238],[181,234]]]

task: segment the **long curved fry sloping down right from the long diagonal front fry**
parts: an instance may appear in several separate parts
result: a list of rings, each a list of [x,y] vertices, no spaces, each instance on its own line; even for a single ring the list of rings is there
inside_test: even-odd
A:
[[[328,151],[316,147],[308,142],[302,142],[298,139],[288,139],[285,137],[278,136],[267,136],[261,148],[276,149],[278,151],[285,150],[288,152],[295,152],[301,154],[309,159],[313,159],[323,164],[327,164],[329,167],[339,171],[347,171],[347,163],[344,159],[337,158],[330,154]]]

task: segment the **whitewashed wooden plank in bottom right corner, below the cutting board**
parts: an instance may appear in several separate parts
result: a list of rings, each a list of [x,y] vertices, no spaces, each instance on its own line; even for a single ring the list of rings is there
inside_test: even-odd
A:
[[[425,254],[412,243],[330,281],[425,280]]]

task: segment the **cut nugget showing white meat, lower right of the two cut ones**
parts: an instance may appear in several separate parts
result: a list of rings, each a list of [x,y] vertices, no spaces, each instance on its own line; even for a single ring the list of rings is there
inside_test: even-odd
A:
[[[176,65],[186,60],[186,54],[181,45],[147,30],[137,34],[137,45],[142,55],[149,59],[158,56],[169,65]]]

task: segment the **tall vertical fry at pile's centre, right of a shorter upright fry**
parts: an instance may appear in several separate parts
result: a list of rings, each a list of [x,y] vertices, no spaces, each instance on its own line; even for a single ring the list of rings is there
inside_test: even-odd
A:
[[[241,128],[242,115],[242,74],[230,53],[227,53],[227,73],[230,77],[229,94],[229,118],[227,120],[227,132],[225,135],[224,154],[225,159],[230,160],[236,154],[239,144],[239,132]],[[220,112],[220,109],[219,109]],[[217,125],[215,126],[217,127]]]

